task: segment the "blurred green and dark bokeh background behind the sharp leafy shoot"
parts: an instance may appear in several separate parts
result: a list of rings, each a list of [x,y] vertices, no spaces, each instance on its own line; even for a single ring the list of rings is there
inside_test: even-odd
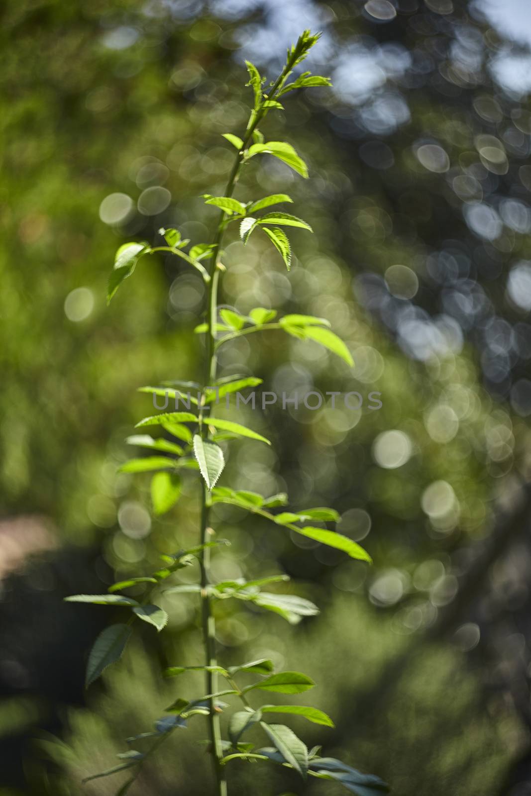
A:
[[[310,178],[264,157],[236,195],[290,193],[315,234],[291,235],[289,275],[259,236],[232,239],[221,300],[330,318],[356,367],[271,333],[226,346],[221,369],[383,405],[253,412],[273,447],[232,444],[222,482],[334,505],[374,565],[217,510],[232,548],[215,576],[287,572],[322,609],[293,627],[222,603],[221,657],[309,673],[336,728],[293,728],[396,796],[529,794],[528,3],[7,0],[1,14],[0,794],[113,794],[123,775],[80,779],[202,693],[199,676],[160,677],[200,654],[193,595],[162,596],[169,629],[140,628],[88,693],[112,611],[62,602],[197,536],[193,474],[155,520],[149,475],[116,469],[150,414],[136,389],[201,375],[201,279],[144,259],[107,309],[107,275],[119,244],[160,240],[162,225],[209,240],[200,196],[223,192],[244,58],[273,76],[305,27],[323,31],[308,68],[334,88],[288,95],[264,132],[295,145]],[[133,796],[209,793],[196,721]],[[241,796],[344,792],[262,764],[230,777]]]

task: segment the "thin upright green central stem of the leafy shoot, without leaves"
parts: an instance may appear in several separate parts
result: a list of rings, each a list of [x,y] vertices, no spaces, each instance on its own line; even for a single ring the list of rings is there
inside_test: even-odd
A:
[[[291,62],[288,61],[283,68],[283,72],[279,75],[275,84],[268,94],[268,99],[272,99],[275,93],[282,87],[287,75],[291,71]],[[264,100],[260,103],[260,107],[252,111],[249,117],[247,129],[244,135],[244,141],[241,149],[238,151],[232,170],[228,176],[227,187],[225,188],[225,197],[232,197],[232,193],[236,187],[236,182],[240,176],[241,166],[244,162],[244,150],[247,148],[248,143],[252,140],[252,134],[256,127],[267,113],[267,108],[264,107]],[[221,275],[221,244],[225,234],[225,219],[226,213],[221,210],[219,221],[217,224],[217,232],[213,241],[213,257],[212,257],[212,270],[209,274],[209,281],[207,295],[207,318],[208,330],[206,332],[206,356],[205,356],[205,383],[203,388],[214,386],[217,377],[217,357],[216,357],[216,323],[217,323],[217,288],[219,285]],[[201,435],[206,437],[208,435],[208,426],[201,423],[204,412],[204,403],[201,401],[199,408],[199,422],[201,428]],[[201,482],[201,544],[206,544],[209,541],[209,507],[207,504],[207,489],[205,482]],[[216,666],[216,622],[212,613],[211,599],[207,591],[210,582],[210,549],[204,548],[200,558],[201,567],[201,624],[203,633],[203,646],[205,648],[205,662],[207,666]],[[217,691],[217,673],[207,671],[205,673],[205,685],[208,694]],[[217,796],[227,796],[227,782],[225,780],[224,766],[221,763],[223,758],[223,749],[221,747],[221,724],[220,717],[216,711],[214,698],[209,699],[209,734],[211,751],[214,761],[214,773],[216,775],[216,792]]]

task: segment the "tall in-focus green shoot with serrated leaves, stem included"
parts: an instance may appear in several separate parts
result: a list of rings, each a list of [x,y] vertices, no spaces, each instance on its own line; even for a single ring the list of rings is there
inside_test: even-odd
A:
[[[260,75],[256,66],[247,62],[251,89],[252,107],[244,132],[235,135],[225,133],[227,146],[232,147],[234,162],[228,177],[223,196],[205,195],[205,203],[219,209],[217,228],[211,243],[189,245],[182,240],[178,229],[162,229],[166,240],[164,246],[151,247],[146,243],[126,243],[120,246],[115,256],[108,286],[108,301],[115,295],[127,277],[131,276],[137,264],[154,252],[170,252],[182,259],[187,266],[195,268],[205,282],[208,296],[205,322],[197,326],[195,332],[205,335],[205,361],[202,384],[187,381],[174,381],[171,388],[143,388],[154,395],[179,396],[181,393],[195,391],[198,398],[192,400],[189,411],[162,412],[147,417],[137,423],[142,429],[138,435],[127,439],[136,447],[147,449],[143,458],[132,458],[121,470],[127,473],[153,472],[151,497],[156,515],[164,514],[177,503],[181,493],[180,473],[183,468],[195,470],[197,486],[201,499],[201,527],[198,529],[197,546],[179,550],[162,556],[162,565],[156,572],[143,577],[131,577],[113,583],[107,594],[72,595],[70,602],[96,603],[122,607],[123,622],[107,626],[96,638],[88,656],[86,685],[91,685],[108,665],[115,663],[126,650],[127,642],[134,631],[135,624],[147,622],[153,631],[162,631],[168,616],[166,611],[152,602],[152,594],[160,592],[162,582],[166,591],[191,591],[197,593],[201,603],[201,629],[204,648],[203,660],[195,665],[170,666],[164,677],[178,677],[189,669],[204,673],[204,693],[179,697],[170,704],[166,716],[158,719],[154,728],[148,732],[127,739],[128,750],[119,755],[119,763],[108,771],[88,777],[88,779],[125,772],[127,778],[120,782],[112,792],[116,796],[127,793],[144,762],[176,729],[185,728],[195,716],[205,716],[209,728],[209,744],[205,747],[213,760],[213,784],[209,791],[216,796],[226,796],[228,786],[226,774],[231,766],[258,763],[263,765],[291,768],[302,778],[316,777],[329,782],[337,782],[347,791],[358,796],[374,796],[388,790],[385,782],[373,775],[342,763],[338,759],[322,757],[319,748],[308,751],[303,740],[295,735],[282,720],[289,716],[303,716],[323,728],[334,724],[326,713],[304,704],[269,704],[270,693],[287,697],[299,695],[314,687],[314,681],[306,674],[296,671],[275,672],[273,663],[266,659],[241,661],[240,665],[226,666],[217,659],[216,627],[213,605],[218,600],[232,599],[252,603],[265,611],[287,620],[299,622],[301,618],[315,615],[318,608],[307,599],[296,595],[268,591],[271,583],[287,580],[287,576],[262,577],[253,580],[227,580],[213,582],[210,575],[210,558],[216,555],[216,548],[225,544],[218,539],[210,527],[209,512],[217,503],[238,506],[250,514],[257,514],[279,527],[315,540],[321,544],[337,548],[353,559],[370,562],[370,557],[360,545],[323,525],[338,521],[334,509],[313,508],[283,510],[287,503],[285,494],[264,496],[254,492],[233,490],[222,482],[225,466],[224,452],[218,444],[221,438],[247,437],[256,445],[268,445],[269,441],[256,431],[225,419],[217,418],[212,404],[217,397],[237,392],[247,387],[255,387],[261,380],[257,377],[229,377],[218,379],[217,353],[221,346],[242,335],[268,330],[283,330],[300,340],[316,341],[329,349],[334,355],[342,357],[346,365],[353,365],[352,357],[345,343],[330,330],[330,322],[325,318],[308,315],[287,314],[277,318],[275,310],[257,307],[247,316],[234,310],[222,309],[218,312],[217,293],[225,267],[221,263],[221,247],[225,236],[232,232],[240,236],[244,244],[251,236],[263,235],[271,241],[280,258],[291,267],[291,244],[287,232],[297,227],[312,232],[310,224],[298,216],[287,213],[283,208],[291,203],[291,197],[284,193],[267,197],[240,197],[234,193],[241,170],[253,167],[264,154],[278,158],[290,166],[301,178],[308,176],[306,164],[294,147],[282,141],[267,141],[267,115],[282,108],[281,103],[290,100],[291,92],[299,88],[328,86],[330,80],[303,72],[292,76],[293,70],[305,59],[311,47],[318,41],[318,35],[305,30],[295,45],[287,51],[286,64],[279,76],[270,83]],[[262,127],[264,125],[264,128]],[[249,165],[248,165],[249,164]],[[185,374],[178,374],[181,378]],[[145,434],[144,427],[162,427],[171,437]],[[279,510],[280,509],[280,510]],[[171,585],[174,573],[197,560],[200,579],[195,584]],[[134,587],[135,595],[143,589],[142,597],[132,599],[127,591]],[[276,588],[276,587],[274,587]],[[156,598],[155,598],[156,599]],[[290,700],[291,701],[291,700]],[[230,707],[228,706],[230,703]],[[262,741],[260,743],[260,734]],[[256,739],[259,739],[256,743]],[[263,745],[264,744],[264,745]],[[110,791],[109,791],[110,792]],[[236,796],[236,791],[233,796]]]

